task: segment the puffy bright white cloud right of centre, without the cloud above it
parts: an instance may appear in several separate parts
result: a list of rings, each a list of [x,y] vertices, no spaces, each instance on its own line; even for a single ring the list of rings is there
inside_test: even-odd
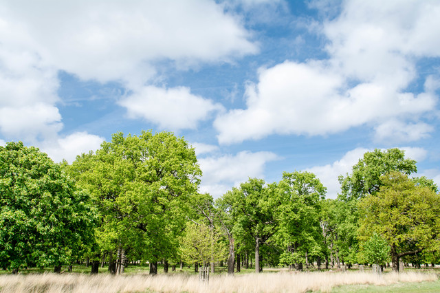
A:
[[[399,93],[378,83],[361,83],[341,94],[343,88],[344,79],[323,63],[286,61],[261,69],[259,83],[246,92],[248,108],[228,111],[214,121],[219,142],[256,140],[272,133],[326,135],[393,117],[415,118],[437,103],[432,94]],[[425,137],[428,131],[432,129],[417,124],[400,138]]]

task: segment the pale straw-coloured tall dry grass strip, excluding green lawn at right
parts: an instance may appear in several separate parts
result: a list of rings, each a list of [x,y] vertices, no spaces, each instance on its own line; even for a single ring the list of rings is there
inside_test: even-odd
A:
[[[371,272],[308,272],[211,276],[208,284],[198,276],[147,274],[1,275],[0,292],[329,292],[338,285],[391,285],[398,282],[436,281],[433,273],[404,272],[376,276]]]

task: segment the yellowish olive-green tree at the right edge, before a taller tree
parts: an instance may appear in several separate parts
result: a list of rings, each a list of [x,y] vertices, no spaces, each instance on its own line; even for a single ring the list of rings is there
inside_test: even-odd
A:
[[[384,237],[397,271],[401,257],[440,248],[440,195],[397,171],[380,180],[380,191],[359,204],[359,236],[366,240],[377,232]]]

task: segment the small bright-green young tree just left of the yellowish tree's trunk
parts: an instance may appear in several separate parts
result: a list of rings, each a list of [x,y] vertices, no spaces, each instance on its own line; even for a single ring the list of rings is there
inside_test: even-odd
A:
[[[380,265],[389,259],[390,246],[377,233],[373,233],[373,236],[362,244],[362,248],[362,256],[367,263]]]

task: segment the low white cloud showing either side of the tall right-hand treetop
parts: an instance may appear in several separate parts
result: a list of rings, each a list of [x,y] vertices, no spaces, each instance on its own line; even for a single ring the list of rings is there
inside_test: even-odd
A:
[[[405,151],[405,158],[410,158],[421,162],[426,159],[428,152],[420,147],[404,146],[399,149]],[[353,165],[357,164],[364,157],[364,153],[373,151],[373,149],[356,148],[345,153],[340,160],[324,166],[314,166],[306,171],[314,173],[321,183],[327,187],[327,197],[336,198],[340,193],[339,175],[347,175],[351,173]],[[383,149],[382,151],[385,151]]]

